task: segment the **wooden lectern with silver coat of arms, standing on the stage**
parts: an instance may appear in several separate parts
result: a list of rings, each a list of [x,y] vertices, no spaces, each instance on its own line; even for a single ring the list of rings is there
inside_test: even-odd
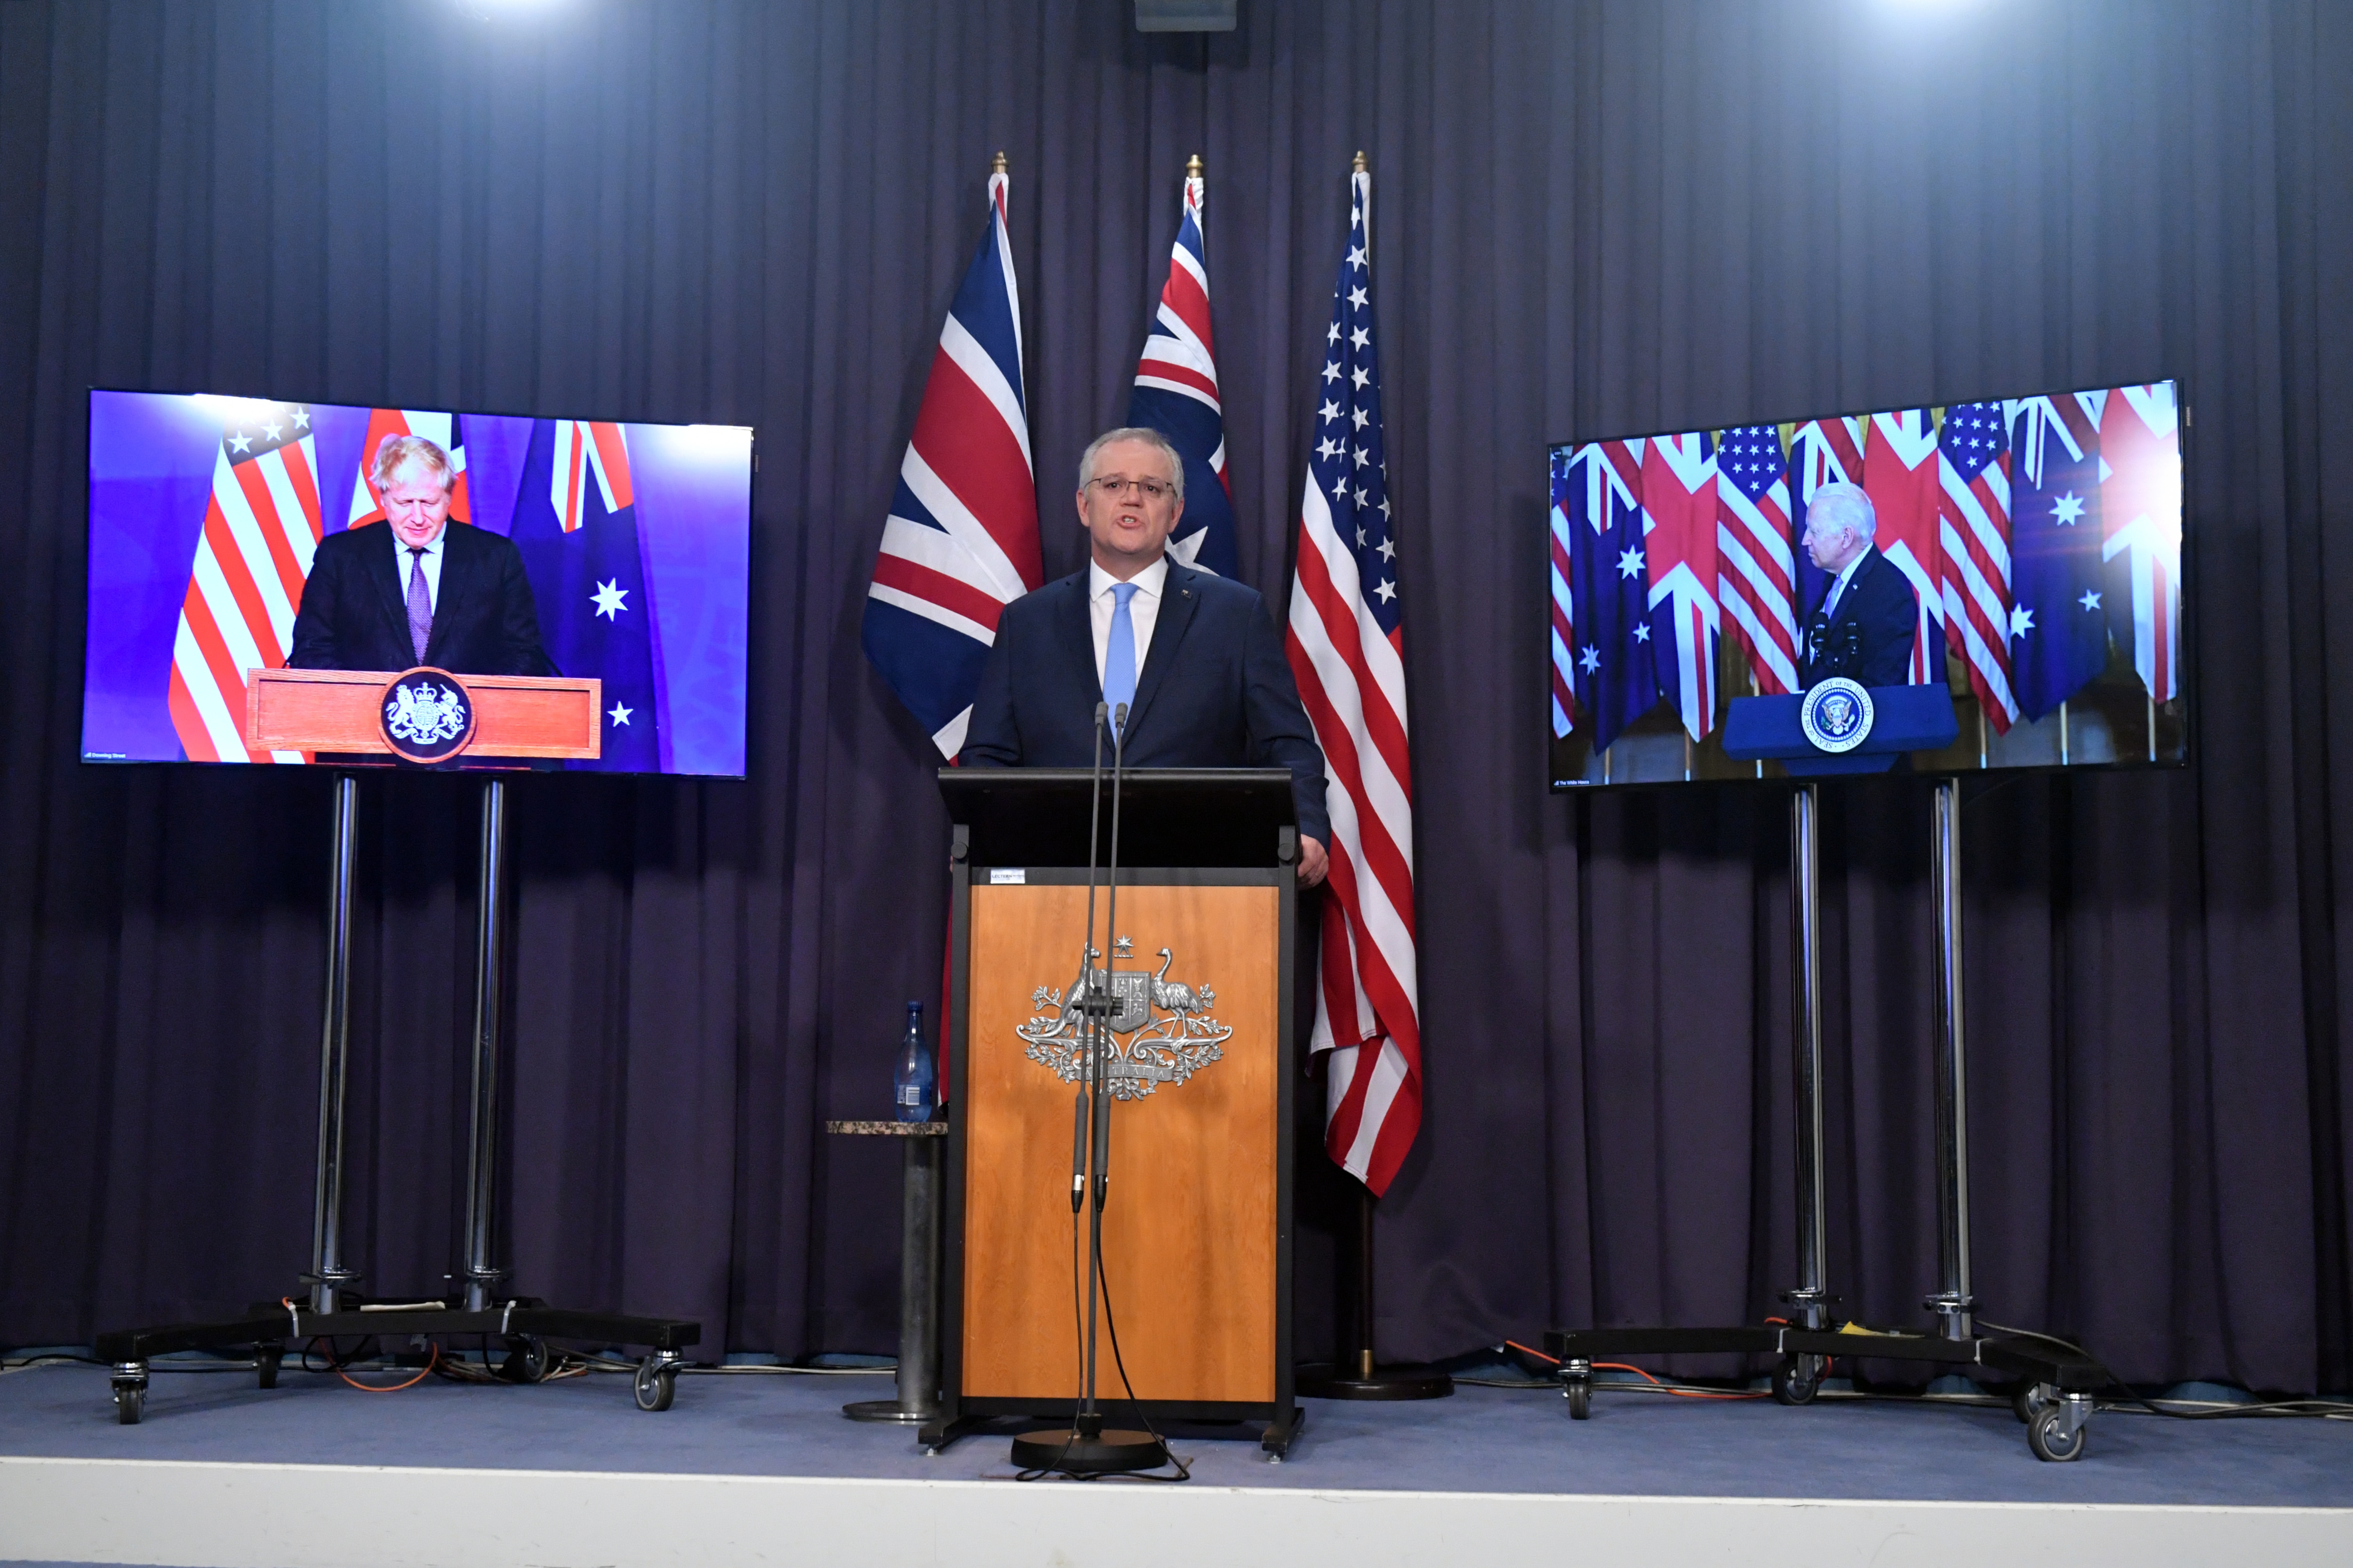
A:
[[[941,769],[953,820],[946,1300],[934,1450],[1080,1392],[1071,1133],[1087,931],[1085,769]],[[1099,1396],[1153,1420],[1264,1420],[1292,1396],[1292,922],[1282,769],[1151,769],[1120,785],[1120,1001],[1104,1204]],[[1099,860],[1111,858],[1104,776]],[[1108,879],[1106,879],[1108,891]],[[1080,1227],[1082,1229],[1082,1227]]]

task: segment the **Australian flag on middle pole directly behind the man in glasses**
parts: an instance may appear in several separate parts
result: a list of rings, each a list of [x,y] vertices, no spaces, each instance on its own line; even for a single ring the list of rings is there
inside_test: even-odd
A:
[[[1235,576],[1233,480],[1226,477],[1226,407],[1217,395],[1217,348],[1209,339],[1209,254],[1200,235],[1205,181],[1200,160],[1186,169],[1184,214],[1169,249],[1160,313],[1144,336],[1127,423],[1169,437],[1184,458],[1184,517],[1169,555],[1188,567]]]

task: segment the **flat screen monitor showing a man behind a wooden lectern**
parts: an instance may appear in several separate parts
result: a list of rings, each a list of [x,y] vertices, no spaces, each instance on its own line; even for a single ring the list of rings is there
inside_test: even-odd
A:
[[[256,745],[256,672],[431,668],[593,691],[536,766],[739,778],[751,475],[736,425],[94,390],[82,759],[391,766]]]

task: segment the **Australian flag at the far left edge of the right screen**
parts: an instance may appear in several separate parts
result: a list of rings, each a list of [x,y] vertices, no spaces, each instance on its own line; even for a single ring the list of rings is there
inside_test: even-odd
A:
[[[1588,442],[1553,454],[1553,508],[1569,536],[1569,672],[1595,752],[1659,703],[1635,447]]]

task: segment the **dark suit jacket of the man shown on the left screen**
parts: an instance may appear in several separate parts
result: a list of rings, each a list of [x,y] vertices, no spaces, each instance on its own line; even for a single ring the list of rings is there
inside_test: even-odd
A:
[[[539,604],[522,550],[504,534],[445,524],[440,592],[426,656],[409,642],[409,607],[388,522],[318,541],[294,611],[289,670],[409,670],[452,675],[553,675],[539,644]]]

